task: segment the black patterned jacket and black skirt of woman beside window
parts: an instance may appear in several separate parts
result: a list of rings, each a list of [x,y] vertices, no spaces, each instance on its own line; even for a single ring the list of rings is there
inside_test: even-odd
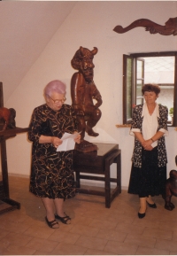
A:
[[[167,131],[168,110],[163,105],[158,105],[158,107],[158,130]],[[132,128],[138,128],[142,132],[142,105],[135,106],[132,120]],[[135,137],[132,161],[128,193],[138,194],[140,198],[159,194],[164,196],[167,163],[165,137],[158,139],[158,146],[152,151],[145,151]]]

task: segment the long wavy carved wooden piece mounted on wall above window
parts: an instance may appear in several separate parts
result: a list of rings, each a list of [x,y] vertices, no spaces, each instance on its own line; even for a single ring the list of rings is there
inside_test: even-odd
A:
[[[123,28],[121,26],[114,27],[113,31],[122,34],[135,27],[146,27],[146,31],[150,31],[150,34],[160,35],[177,35],[177,17],[170,18],[165,22],[165,26],[158,25],[150,19],[137,19],[129,26]]]

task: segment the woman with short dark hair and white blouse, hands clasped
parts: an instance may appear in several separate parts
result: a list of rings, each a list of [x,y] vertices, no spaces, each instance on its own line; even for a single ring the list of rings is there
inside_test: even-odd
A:
[[[165,193],[168,110],[156,103],[159,92],[158,85],[145,84],[145,103],[135,106],[132,117],[130,134],[135,136],[135,148],[128,193],[139,195],[139,218],[145,216],[146,204],[157,208],[151,197]]]

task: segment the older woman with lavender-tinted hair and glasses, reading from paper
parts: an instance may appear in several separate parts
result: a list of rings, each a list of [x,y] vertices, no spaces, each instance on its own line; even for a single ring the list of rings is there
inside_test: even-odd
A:
[[[46,104],[35,108],[29,125],[28,138],[33,142],[30,191],[42,198],[45,221],[58,229],[58,221],[71,223],[64,212],[64,201],[75,195],[73,151],[57,151],[65,132],[77,132],[73,108],[65,103],[65,84],[50,81],[44,88]],[[81,136],[74,139],[81,142]]]

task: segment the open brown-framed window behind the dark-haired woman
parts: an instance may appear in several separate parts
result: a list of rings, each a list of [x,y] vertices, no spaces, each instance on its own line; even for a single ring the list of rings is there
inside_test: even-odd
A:
[[[143,104],[144,83],[159,85],[157,102],[168,108],[168,125],[177,126],[177,51],[123,55],[123,124],[131,122],[133,107]]]

